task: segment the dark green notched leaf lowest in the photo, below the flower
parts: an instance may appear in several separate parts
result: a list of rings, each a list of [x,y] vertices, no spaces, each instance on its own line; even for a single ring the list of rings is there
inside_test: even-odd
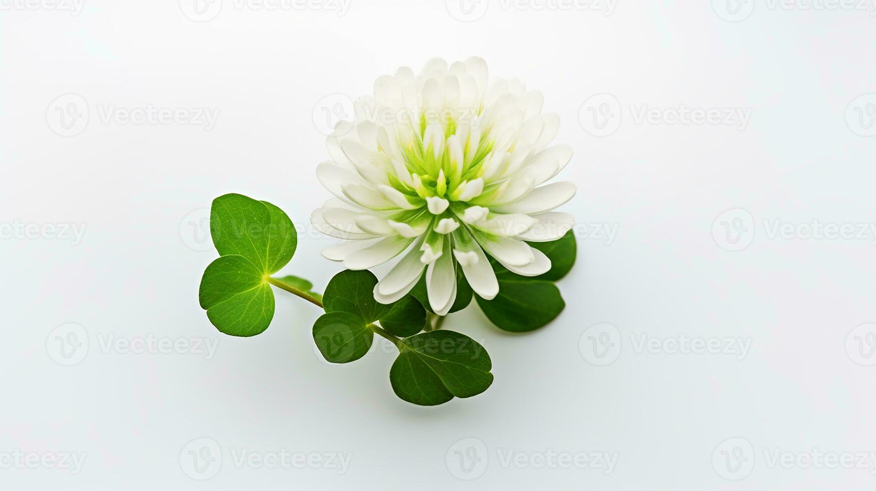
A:
[[[392,363],[392,390],[401,399],[434,406],[490,387],[492,363],[484,346],[454,331],[430,331],[405,338]]]

